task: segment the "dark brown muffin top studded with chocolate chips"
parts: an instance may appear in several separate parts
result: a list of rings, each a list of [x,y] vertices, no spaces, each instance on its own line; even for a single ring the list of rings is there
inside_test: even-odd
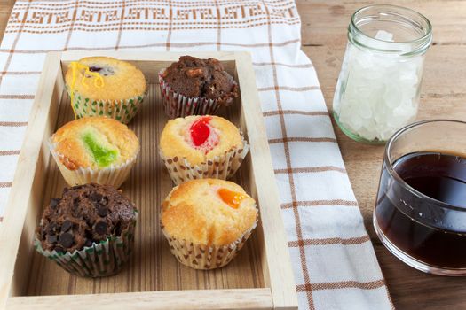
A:
[[[110,185],[95,183],[66,188],[43,212],[37,238],[44,250],[74,252],[121,236],[136,217],[128,198]]]

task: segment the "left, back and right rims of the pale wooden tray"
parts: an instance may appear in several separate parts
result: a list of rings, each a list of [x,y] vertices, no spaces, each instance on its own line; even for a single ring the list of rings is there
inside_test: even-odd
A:
[[[259,105],[259,97],[256,87],[256,78],[249,52],[245,51],[225,51],[214,52],[219,60],[235,60],[239,71],[239,83],[241,88],[241,109],[246,128],[249,132],[249,143],[251,144],[251,160],[253,161],[253,174],[257,187],[257,198],[261,205],[261,221],[264,231],[265,241],[265,263],[264,270],[265,285],[270,287],[272,292],[272,304],[277,309],[297,309],[296,286],[291,267],[291,260],[288,252],[288,242],[285,228],[281,218],[280,198],[278,196],[277,184],[272,168],[272,158],[266,138],[265,124],[262,119],[262,111]],[[154,52],[154,51],[68,51],[52,52],[47,55],[44,62],[43,74],[39,81],[36,98],[31,111],[28,129],[23,147],[20,152],[20,161],[12,184],[12,191],[8,200],[4,222],[0,225],[0,248],[5,249],[9,255],[0,257],[0,307],[6,305],[6,300],[12,294],[12,276],[16,262],[16,256],[20,244],[20,232],[26,220],[26,212],[30,204],[30,194],[33,190],[34,178],[23,177],[35,171],[36,163],[39,160],[39,151],[43,143],[46,125],[54,121],[48,120],[50,106],[43,103],[50,103],[51,97],[56,93],[61,94],[64,85],[58,84],[61,74],[61,61],[74,60],[91,55],[106,55],[124,60],[151,60],[156,58],[159,61],[172,61],[173,58],[185,55],[186,52]],[[190,55],[207,58],[212,56],[211,51],[189,52]],[[46,70],[47,69],[47,70]],[[51,82],[53,81],[53,83]],[[61,80],[60,80],[61,81]],[[53,89],[52,91],[50,89]],[[43,154],[47,159],[50,154]],[[27,190],[28,189],[28,190]],[[24,196],[23,192],[26,191]],[[39,190],[40,192],[40,190]],[[40,195],[40,193],[38,194]],[[12,215],[11,215],[12,214]],[[13,217],[14,215],[14,217]],[[22,223],[23,225],[19,225]],[[277,255],[280,253],[280,255]],[[251,292],[259,289],[246,290]],[[225,290],[215,290],[225,291]],[[231,290],[239,291],[239,290]],[[151,293],[161,294],[163,291]],[[125,293],[126,294],[126,293]],[[132,294],[132,293],[128,293]],[[119,294],[111,294],[117,296]],[[16,297],[15,297],[16,298]],[[12,298],[13,300],[19,300]],[[22,298],[22,297],[21,297]],[[32,298],[32,297],[24,297]],[[249,296],[250,298],[250,296]],[[14,304],[14,303],[13,303]],[[9,302],[10,305],[10,302]],[[10,306],[9,306],[10,307]]]

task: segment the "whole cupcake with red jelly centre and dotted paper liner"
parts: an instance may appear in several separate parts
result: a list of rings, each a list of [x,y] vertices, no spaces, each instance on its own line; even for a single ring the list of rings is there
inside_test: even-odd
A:
[[[249,145],[224,118],[194,115],[169,120],[160,155],[175,184],[201,178],[227,179],[241,166]]]

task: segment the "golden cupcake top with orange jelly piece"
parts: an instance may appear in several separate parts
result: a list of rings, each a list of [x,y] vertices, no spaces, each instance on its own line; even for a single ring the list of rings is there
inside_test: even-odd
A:
[[[162,202],[162,227],[194,244],[226,245],[257,221],[256,202],[241,186],[224,180],[184,182]]]

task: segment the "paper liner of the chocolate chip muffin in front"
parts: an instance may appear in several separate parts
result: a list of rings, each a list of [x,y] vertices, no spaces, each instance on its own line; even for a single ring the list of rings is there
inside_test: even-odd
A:
[[[43,250],[37,238],[34,246],[37,252],[55,261],[59,267],[70,274],[87,277],[115,275],[130,259],[135,227],[136,220],[130,223],[127,229],[122,230],[121,236],[107,236],[107,240],[99,244],[94,243],[89,247],[85,246],[81,251],[61,253],[55,250],[51,252]]]

